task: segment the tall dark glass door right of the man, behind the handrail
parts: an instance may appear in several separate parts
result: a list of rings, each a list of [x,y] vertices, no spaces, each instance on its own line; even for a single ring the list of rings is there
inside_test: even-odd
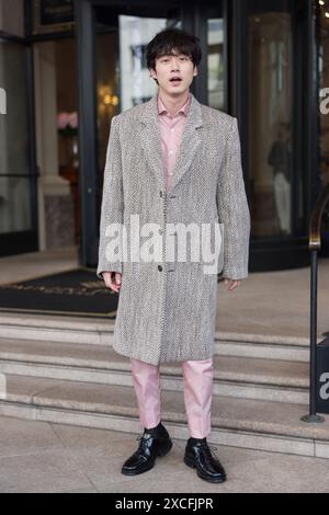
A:
[[[247,0],[245,123],[252,270],[304,266],[309,261],[306,20],[304,1]]]

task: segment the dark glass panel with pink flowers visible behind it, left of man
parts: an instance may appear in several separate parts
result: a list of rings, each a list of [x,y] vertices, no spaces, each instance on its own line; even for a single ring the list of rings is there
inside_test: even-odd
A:
[[[68,227],[75,227],[75,242],[78,244],[81,228],[77,42],[65,37],[36,43],[34,61],[41,175],[46,196],[58,196],[56,202],[52,201],[52,217],[58,220],[58,225],[66,218]],[[61,203],[67,206],[66,215],[60,208]]]

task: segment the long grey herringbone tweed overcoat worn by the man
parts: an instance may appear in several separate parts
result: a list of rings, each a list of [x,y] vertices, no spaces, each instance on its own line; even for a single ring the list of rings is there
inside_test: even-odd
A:
[[[129,244],[133,236],[122,236],[118,261],[109,261],[106,245],[113,233],[109,236],[106,227],[122,224],[129,234],[131,215],[138,215],[140,227],[157,224],[162,238],[168,224],[223,224],[224,252],[216,273],[205,274],[204,263],[194,262],[190,254],[185,262],[177,254],[169,262],[164,238],[162,258],[157,261],[123,259],[123,242]],[[223,270],[232,279],[247,277],[249,237],[237,118],[201,104],[192,94],[169,192],[157,94],[112,118],[97,275],[123,274],[113,343],[117,353],[152,365],[212,357],[217,273]],[[214,236],[211,239],[213,245]]]

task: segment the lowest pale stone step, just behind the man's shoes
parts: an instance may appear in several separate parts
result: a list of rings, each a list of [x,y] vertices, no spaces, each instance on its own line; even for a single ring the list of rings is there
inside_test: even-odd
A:
[[[16,375],[2,379],[2,415],[141,432],[131,387]],[[171,436],[186,439],[183,393],[162,390],[161,403],[161,417]],[[207,440],[215,445],[329,458],[329,421],[307,424],[300,421],[306,413],[306,407],[300,404],[214,396],[212,434]]]

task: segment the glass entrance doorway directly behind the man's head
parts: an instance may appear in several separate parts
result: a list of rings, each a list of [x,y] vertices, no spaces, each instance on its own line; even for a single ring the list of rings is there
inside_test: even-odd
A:
[[[182,3],[182,2],[181,2]],[[193,3],[193,2],[192,2]],[[225,27],[220,2],[190,4],[200,26],[203,59],[191,90],[200,102],[226,110]],[[125,12],[126,11],[126,12]],[[146,14],[147,12],[147,14]],[[112,116],[149,100],[157,92],[146,66],[148,42],[166,27],[183,27],[184,9],[179,2],[144,9],[102,5],[94,8],[99,172],[105,164]],[[193,23],[192,23],[193,24]],[[203,88],[205,83],[205,88]],[[100,191],[102,184],[100,185]]]

